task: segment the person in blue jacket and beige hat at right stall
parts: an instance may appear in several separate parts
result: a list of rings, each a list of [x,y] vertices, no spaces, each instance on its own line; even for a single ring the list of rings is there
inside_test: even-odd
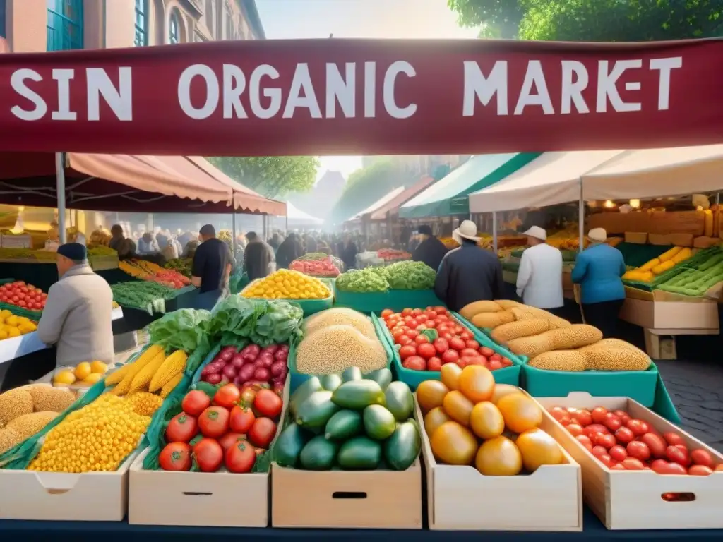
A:
[[[573,283],[581,285],[585,322],[597,327],[604,337],[615,337],[625,301],[625,261],[618,249],[605,244],[607,232],[603,228],[591,229],[588,238],[591,245],[575,261]]]

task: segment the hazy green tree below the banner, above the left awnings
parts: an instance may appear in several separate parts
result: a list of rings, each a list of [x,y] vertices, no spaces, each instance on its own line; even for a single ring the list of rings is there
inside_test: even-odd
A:
[[[234,181],[266,197],[306,192],[314,186],[320,165],[314,156],[221,156],[208,160]]]

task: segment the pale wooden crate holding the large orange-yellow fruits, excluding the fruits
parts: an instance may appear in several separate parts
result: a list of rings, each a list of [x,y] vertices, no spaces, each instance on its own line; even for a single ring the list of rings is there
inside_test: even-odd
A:
[[[414,402],[421,420],[416,394]],[[567,463],[563,465],[544,465],[529,476],[483,476],[474,467],[437,463],[424,423],[421,426],[430,529],[583,529],[581,469],[564,448]],[[555,438],[560,431],[547,413],[540,428]]]

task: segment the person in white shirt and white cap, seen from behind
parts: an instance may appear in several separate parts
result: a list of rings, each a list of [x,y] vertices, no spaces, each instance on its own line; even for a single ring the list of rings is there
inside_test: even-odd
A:
[[[559,309],[562,297],[562,252],[547,244],[547,232],[532,226],[523,233],[529,248],[522,253],[517,274],[517,295],[538,309]]]

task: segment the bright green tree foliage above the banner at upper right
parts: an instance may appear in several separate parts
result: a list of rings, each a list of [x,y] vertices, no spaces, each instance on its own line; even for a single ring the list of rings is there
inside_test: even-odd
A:
[[[482,37],[651,41],[723,34],[721,0],[448,0]]]

